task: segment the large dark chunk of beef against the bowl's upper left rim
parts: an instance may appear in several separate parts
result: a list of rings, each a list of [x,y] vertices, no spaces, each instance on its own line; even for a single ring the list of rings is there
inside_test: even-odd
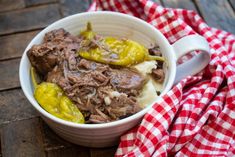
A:
[[[61,60],[67,60],[69,68],[76,64],[75,52],[79,48],[79,39],[71,36],[64,29],[46,33],[44,42],[34,45],[27,55],[33,67],[40,75],[47,75]]]

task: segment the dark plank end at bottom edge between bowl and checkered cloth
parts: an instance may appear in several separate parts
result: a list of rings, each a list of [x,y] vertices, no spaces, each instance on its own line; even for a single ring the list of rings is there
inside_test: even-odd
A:
[[[110,148],[92,148],[90,150],[91,157],[111,157],[114,156],[117,147],[110,147]]]

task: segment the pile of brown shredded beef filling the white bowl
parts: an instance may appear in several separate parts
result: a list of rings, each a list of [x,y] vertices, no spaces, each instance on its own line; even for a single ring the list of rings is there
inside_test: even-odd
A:
[[[44,81],[58,84],[77,105],[87,123],[105,123],[140,110],[136,101],[145,78],[130,68],[110,67],[77,55],[81,39],[64,29],[48,32],[28,51]]]

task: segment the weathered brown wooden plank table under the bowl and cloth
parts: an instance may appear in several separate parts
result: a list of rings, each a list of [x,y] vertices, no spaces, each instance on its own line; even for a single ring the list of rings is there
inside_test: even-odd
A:
[[[155,0],[197,11],[213,27],[235,34],[235,0]],[[0,157],[109,157],[116,147],[93,149],[58,137],[38,117],[19,84],[19,62],[28,42],[48,24],[86,11],[89,0],[0,0]]]

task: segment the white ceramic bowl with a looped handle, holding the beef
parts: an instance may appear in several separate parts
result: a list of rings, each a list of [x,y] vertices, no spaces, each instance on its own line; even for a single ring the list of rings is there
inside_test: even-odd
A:
[[[100,35],[127,37],[145,45],[146,47],[149,47],[152,44],[158,44],[163,56],[167,59],[168,64],[162,95],[170,90],[175,81],[178,81],[189,74],[199,72],[207,65],[210,58],[208,53],[208,44],[201,36],[187,36],[177,41],[174,45],[170,45],[160,31],[155,29],[153,26],[138,18],[121,13],[80,13],[66,17],[49,25],[36,35],[24,51],[19,70],[20,84],[25,96],[33,107],[40,113],[44,121],[59,136],[75,144],[89,147],[107,147],[115,145],[118,143],[120,135],[138,124],[144,114],[152,106],[152,104],[149,104],[148,107],[128,118],[105,124],[76,124],[64,121],[54,117],[40,107],[33,97],[33,87],[30,77],[31,65],[26,55],[27,50],[34,44],[41,43],[46,32],[57,28],[64,28],[71,34],[77,35],[81,29],[85,28],[88,21],[92,23],[94,31]],[[194,57],[194,59],[184,65],[177,67],[177,59],[191,50],[203,50],[204,53]],[[177,71],[179,72],[176,77],[177,68]]]

